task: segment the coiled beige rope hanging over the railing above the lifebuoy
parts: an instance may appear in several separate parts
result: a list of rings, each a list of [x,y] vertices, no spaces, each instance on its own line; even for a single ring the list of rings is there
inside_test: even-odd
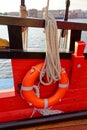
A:
[[[60,79],[61,64],[59,57],[59,44],[57,34],[57,24],[54,17],[48,13],[49,0],[47,7],[44,8],[45,13],[45,34],[46,34],[46,58],[43,68],[40,72],[40,82],[43,85],[49,85],[53,81]],[[46,74],[47,83],[43,81],[43,76]]]

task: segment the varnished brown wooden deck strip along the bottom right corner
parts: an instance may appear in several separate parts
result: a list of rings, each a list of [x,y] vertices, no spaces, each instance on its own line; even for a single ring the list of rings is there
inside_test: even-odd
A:
[[[87,130],[87,119],[71,120],[15,130]]]

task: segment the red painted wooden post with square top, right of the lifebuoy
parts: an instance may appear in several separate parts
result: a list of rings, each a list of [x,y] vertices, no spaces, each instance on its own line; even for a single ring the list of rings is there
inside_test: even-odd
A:
[[[72,54],[72,72],[70,78],[70,84],[73,89],[77,86],[78,89],[82,88],[84,86],[84,82],[87,80],[86,71],[84,70],[85,56],[83,55],[85,45],[86,44],[83,41],[75,42],[75,51]]]

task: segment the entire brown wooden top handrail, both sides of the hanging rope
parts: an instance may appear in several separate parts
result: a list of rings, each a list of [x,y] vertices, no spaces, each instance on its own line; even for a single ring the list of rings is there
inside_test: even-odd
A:
[[[45,26],[45,20],[35,18],[0,16],[0,24],[42,28]],[[87,23],[57,21],[57,26],[60,29],[72,29],[72,30],[84,30],[84,31],[87,30]]]

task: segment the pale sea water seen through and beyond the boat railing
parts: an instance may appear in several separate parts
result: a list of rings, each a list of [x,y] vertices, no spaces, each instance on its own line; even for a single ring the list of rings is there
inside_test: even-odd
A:
[[[87,23],[87,19],[70,19],[69,21]],[[7,26],[0,25],[0,38],[8,40]],[[45,34],[43,28],[29,28],[28,48],[45,51]],[[82,31],[81,40],[87,43],[87,32]],[[87,51],[87,46],[85,48]],[[14,87],[11,60],[0,59],[0,90]]]

